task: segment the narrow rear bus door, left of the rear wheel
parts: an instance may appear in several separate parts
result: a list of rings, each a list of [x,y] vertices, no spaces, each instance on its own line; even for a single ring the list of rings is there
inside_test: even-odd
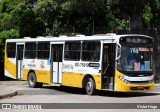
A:
[[[17,53],[16,53],[16,78],[22,79],[23,78],[23,51],[24,45],[18,44],[17,45]]]

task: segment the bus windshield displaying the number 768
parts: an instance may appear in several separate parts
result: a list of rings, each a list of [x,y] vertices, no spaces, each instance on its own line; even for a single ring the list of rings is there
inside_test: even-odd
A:
[[[121,57],[118,60],[118,69],[122,71],[152,71],[151,47],[121,47]]]

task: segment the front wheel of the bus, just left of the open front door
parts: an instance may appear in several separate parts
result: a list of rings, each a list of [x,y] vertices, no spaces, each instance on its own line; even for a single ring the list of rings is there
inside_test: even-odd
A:
[[[86,82],[86,93],[88,95],[94,95],[96,93],[95,81],[91,77],[88,77]]]

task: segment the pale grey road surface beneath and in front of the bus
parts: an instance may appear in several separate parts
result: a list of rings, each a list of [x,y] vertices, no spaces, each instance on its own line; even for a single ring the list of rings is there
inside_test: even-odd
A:
[[[18,95],[5,98],[0,100],[0,103],[160,103],[160,84],[155,85],[155,91],[151,93],[115,93],[109,91],[98,91],[96,95],[89,96],[86,95],[85,90],[71,87],[53,87],[44,85],[42,88],[30,88],[26,81],[0,81],[0,89],[16,89]],[[126,106],[127,108],[127,106]],[[1,110],[0,110],[1,111]],[[3,110],[4,111],[4,110]],[[6,110],[5,110],[6,111]],[[20,111],[20,110],[16,110]],[[28,110],[26,110],[28,111]],[[33,110],[29,110],[33,111]],[[41,112],[42,110],[40,110]],[[44,110],[43,110],[44,111]],[[53,111],[53,110],[47,110]],[[64,110],[56,110],[64,111]],[[65,110],[65,112],[71,112],[71,110]],[[106,112],[106,110],[76,110],[81,111],[98,111]],[[119,112],[119,109],[108,109],[107,111]],[[124,112],[137,112],[137,109],[126,110]],[[145,110],[141,109],[138,111],[142,112],[159,112],[159,110]],[[10,111],[9,111],[10,112]],[[39,110],[38,110],[39,112]]]

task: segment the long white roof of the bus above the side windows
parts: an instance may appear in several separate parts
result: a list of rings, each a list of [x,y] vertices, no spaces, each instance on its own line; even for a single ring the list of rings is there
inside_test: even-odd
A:
[[[92,36],[85,36],[85,35],[76,35],[72,37],[68,36],[59,36],[59,37],[53,37],[53,36],[38,36],[37,38],[30,38],[25,37],[21,39],[7,39],[6,42],[40,42],[40,41],[53,41],[53,42],[62,42],[62,41],[83,41],[83,40],[115,40],[118,41],[120,37],[126,37],[126,36],[144,36],[151,38],[146,35],[139,35],[139,34],[127,34],[127,35],[107,35],[107,34],[97,34]]]

